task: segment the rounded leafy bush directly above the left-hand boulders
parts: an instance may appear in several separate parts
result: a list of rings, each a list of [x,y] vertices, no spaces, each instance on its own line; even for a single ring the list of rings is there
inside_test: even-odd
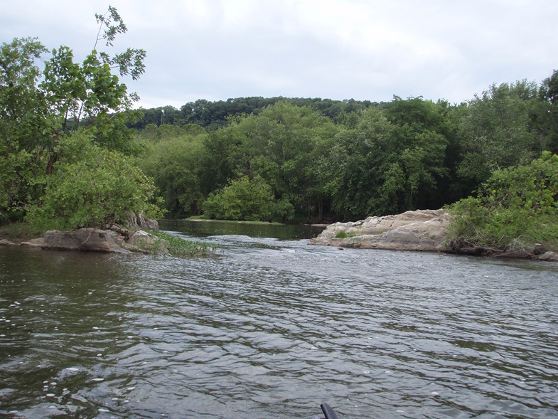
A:
[[[85,133],[65,139],[59,151],[61,161],[45,193],[28,209],[34,228],[104,228],[126,222],[129,212],[161,216],[153,182],[129,157],[95,146]]]

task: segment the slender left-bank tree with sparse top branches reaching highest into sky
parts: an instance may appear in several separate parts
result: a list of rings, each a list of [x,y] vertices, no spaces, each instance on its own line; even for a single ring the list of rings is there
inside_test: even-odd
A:
[[[53,49],[45,63],[44,80],[38,87],[45,95],[50,116],[56,121],[53,132],[45,138],[49,154],[47,173],[52,171],[57,159],[53,149],[58,138],[80,127],[82,120],[95,129],[96,139],[104,147],[130,151],[127,147],[132,142],[132,132],[127,134],[126,123],[138,114],[124,111],[131,110],[138,97],[127,91],[119,75],[138,79],[145,70],[146,53],[136,48],[114,55],[97,51],[99,41],[110,47],[117,34],[127,32],[127,27],[112,6],[104,15],[95,14],[95,18],[99,23],[95,46],[81,64],[74,63],[73,51],[67,46]],[[112,117],[115,112],[120,112],[119,118]]]

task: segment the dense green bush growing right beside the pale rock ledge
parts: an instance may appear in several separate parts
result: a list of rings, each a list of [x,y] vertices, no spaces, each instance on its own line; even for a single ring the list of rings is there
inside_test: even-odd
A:
[[[558,246],[558,156],[494,171],[476,196],[448,207],[449,240],[495,248]]]

